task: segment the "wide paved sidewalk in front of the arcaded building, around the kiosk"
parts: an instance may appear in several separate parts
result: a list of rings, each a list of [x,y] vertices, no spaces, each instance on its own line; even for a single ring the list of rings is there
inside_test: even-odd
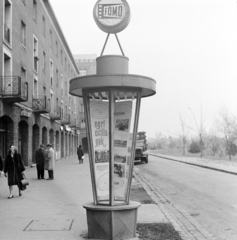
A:
[[[21,197],[14,186],[13,199],[7,198],[7,178],[0,176],[0,239],[88,239],[83,208],[84,203],[93,201],[88,156],[83,164],[79,164],[77,156],[56,161],[52,181],[38,180],[35,167],[27,168],[25,175],[30,185]],[[167,222],[155,204],[142,204],[137,221]]]

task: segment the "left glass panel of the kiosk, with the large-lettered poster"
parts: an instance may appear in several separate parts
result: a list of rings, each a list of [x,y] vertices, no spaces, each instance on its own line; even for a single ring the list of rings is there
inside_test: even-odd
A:
[[[102,92],[90,94],[90,124],[96,193],[99,203],[109,204],[109,101]]]

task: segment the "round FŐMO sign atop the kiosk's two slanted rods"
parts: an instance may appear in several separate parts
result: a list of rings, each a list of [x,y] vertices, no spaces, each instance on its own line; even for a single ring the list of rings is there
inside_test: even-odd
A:
[[[93,16],[102,31],[118,33],[128,26],[131,13],[126,0],[98,0]]]

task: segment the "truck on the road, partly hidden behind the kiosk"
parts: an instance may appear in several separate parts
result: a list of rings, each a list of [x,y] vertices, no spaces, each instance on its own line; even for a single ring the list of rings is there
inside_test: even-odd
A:
[[[138,132],[135,147],[134,162],[141,161],[148,163],[146,132]]]

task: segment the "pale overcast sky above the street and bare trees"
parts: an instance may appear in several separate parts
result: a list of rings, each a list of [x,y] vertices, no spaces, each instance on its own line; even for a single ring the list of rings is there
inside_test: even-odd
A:
[[[93,19],[96,0],[50,0],[73,54],[101,54],[107,34]],[[118,38],[129,73],[156,80],[142,99],[139,131],[178,137],[180,116],[209,131],[221,108],[237,116],[237,1],[127,0],[131,20]],[[119,54],[110,35],[103,55]]]

